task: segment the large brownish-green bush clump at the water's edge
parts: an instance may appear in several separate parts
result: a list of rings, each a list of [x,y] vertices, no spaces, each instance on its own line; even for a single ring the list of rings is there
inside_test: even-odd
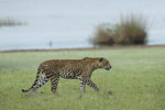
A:
[[[95,36],[90,40],[95,45],[136,45],[146,44],[146,22],[143,18],[121,18],[119,24],[108,23],[97,26]]]

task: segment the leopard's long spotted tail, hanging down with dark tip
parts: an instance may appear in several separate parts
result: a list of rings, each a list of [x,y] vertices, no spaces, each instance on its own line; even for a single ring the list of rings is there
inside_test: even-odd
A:
[[[35,86],[36,86],[37,81],[40,80],[40,74],[41,74],[41,70],[37,69],[36,78],[34,80],[33,85],[26,90],[22,89],[22,92],[29,92],[30,90],[35,90]]]

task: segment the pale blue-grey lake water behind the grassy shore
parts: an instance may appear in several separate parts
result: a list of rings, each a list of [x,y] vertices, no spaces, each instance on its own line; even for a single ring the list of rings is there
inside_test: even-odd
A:
[[[0,19],[23,22],[0,28],[0,51],[92,47],[88,42],[100,23],[142,14],[147,45],[165,44],[165,0],[0,0]]]

